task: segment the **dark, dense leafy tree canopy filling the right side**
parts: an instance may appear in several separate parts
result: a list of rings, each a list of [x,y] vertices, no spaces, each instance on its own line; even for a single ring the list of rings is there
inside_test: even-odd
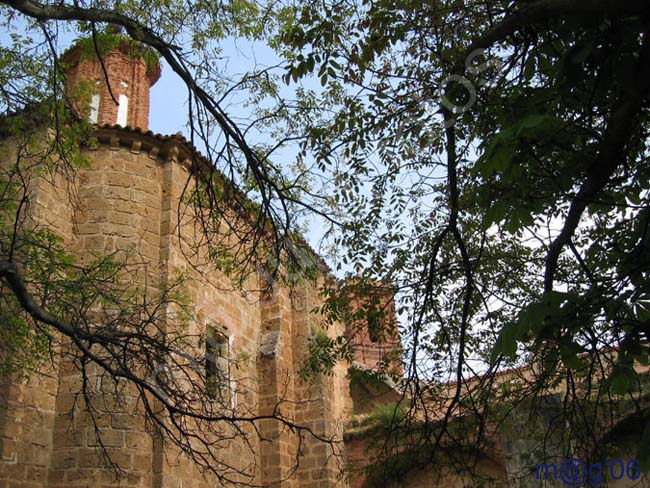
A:
[[[489,383],[504,367],[538,365],[513,398],[565,385],[568,437],[592,446],[595,419],[611,412],[604,398],[640,388],[648,12],[322,2],[282,34],[285,81],[323,86],[302,148],[335,182],[341,262],[397,284],[410,406],[447,412],[420,440],[429,452],[454,440],[448,422],[463,409],[490,418],[492,395],[464,391],[477,374]],[[446,401],[429,400],[432,380],[454,382]]]

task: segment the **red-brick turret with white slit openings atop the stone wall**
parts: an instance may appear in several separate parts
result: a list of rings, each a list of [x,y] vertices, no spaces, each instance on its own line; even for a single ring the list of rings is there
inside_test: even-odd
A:
[[[119,33],[98,37],[100,56],[92,39],[77,41],[62,56],[73,106],[98,125],[149,130],[149,90],[160,78],[157,56]]]

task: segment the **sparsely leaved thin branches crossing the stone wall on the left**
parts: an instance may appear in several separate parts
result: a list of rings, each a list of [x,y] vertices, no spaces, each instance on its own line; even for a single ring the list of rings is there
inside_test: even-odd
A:
[[[65,52],[78,36],[75,49],[82,56],[103,59],[119,48],[143,57],[150,68],[164,60],[187,86],[188,138],[205,154],[194,153],[177,209],[182,224],[194,226],[189,234],[197,241],[182,249],[188,267],[207,266],[207,259],[232,278],[224,286],[238,291],[247,281],[256,287],[257,278],[259,288],[268,291],[281,273],[295,275],[293,284],[313,277],[320,263],[297,238],[298,213],[309,206],[298,194],[308,178],[300,164],[292,175],[273,161],[283,140],[249,142],[249,132],[265,126],[263,117],[242,127],[224,108],[242,94],[252,94],[251,103],[257,104],[275,96],[268,67],[253,66],[238,78],[217,62],[226,37],[255,41],[274,29],[282,12],[273,5],[247,0],[0,4],[0,23],[8,33],[0,39],[0,372],[9,375],[3,381],[19,379],[42,372],[48,360],[74,372],[79,388],[73,392],[73,415],[95,431],[104,461],[117,477],[124,473],[105,449],[100,427],[101,415],[115,413],[117,405],[137,409],[148,432],[209,471],[219,485],[255,485],[255,462],[247,464],[241,456],[230,463],[221,454],[238,439],[259,459],[254,450],[263,422],[333,445],[280,408],[262,413],[252,402],[237,407],[231,401],[237,385],[230,378],[227,383],[221,378],[223,394],[215,395],[215,376],[205,374],[214,372],[215,364],[201,354],[202,331],[194,325],[184,273],[152,272],[157,260],[139,255],[135,242],[125,248],[128,238],[115,251],[112,244],[100,244],[91,252],[91,244],[82,255],[56,222],[70,210],[72,217],[62,220],[77,223],[80,170],[89,162],[84,152],[97,144],[96,128],[84,120],[90,107],[75,100],[90,100],[93,87],[66,84],[70,59]],[[63,209],[50,208],[48,190]],[[303,259],[307,255],[309,263]],[[230,371],[246,358],[215,361]]]

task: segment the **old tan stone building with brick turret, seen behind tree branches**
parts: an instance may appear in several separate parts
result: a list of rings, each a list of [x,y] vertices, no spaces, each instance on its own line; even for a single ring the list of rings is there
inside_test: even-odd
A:
[[[240,481],[282,488],[364,486],[366,474],[344,474],[348,465],[354,474],[354,468],[367,464],[371,433],[350,420],[363,417],[377,403],[400,400],[401,394],[388,380],[364,383],[350,371],[377,368],[387,353],[399,352],[399,339],[373,336],[370,329],[353,333],[351,324],[343,322],[326,327],[314,313],[322,305],[318,286],[331,279],[326,269],[315,282],[276,284],[270,293],[260,292],[262,287],[251,278],[248,288],[257,291],[246,293],[201,256],[188,255],[184,246],[200,237],[192,225],[180,225],[184,221],[178,209],[197,152],[180,135],[148,130],[149,89],[160,76],[159,66],[133,55],[128,45],[106,53],[103,66],[74,48],[66,61],[69,84],[90,83],[88,116],[96,124],[95,142],[84,149],[90,164],[78,169],[72,180],[56,174],[34,180],[26,210],[30,221],[53,230],[80,263],[133,250],[146,268],[133,276],[134,285],[186,277],[183,292],[194,311],[188,333],[211,337],[212,342],[205,341],[211,352],[232,365],[221,371],[227,376],[229,408],[242,415],[268,416],[251,435],[225,436],[213,448],[225,466],[243,473]],[[10,153],[5,148],[3,157]],[[388,321],[395,322],[391,291],[382,293]],[[347,334],[358,346],[356,356],[336,364],[331,375],[304,379],[300,373],[310,344],[325,333]],[[399,359],[395,367],[401,367]],[[500,381],[516,381],[519,373],[507,373]],[[0,488],[221,486],[211,473],[152,433],[136,397],[127,393],[119,404],[106,401],[92,421],[79,398],[81,382],[77,365],[68,359],[47,361],[28,379],[2,378]],[[94,388],[107,386],[97,380]],[[335,440],[334,447],[270,418],[278,409],[295,425]],[[526,423],[526,417],[521,418],[514,434],[499,436],[493,450],[478,459],[477,470],[493,480],[492,486],[540,486],[534,473],[516,478],[517,483],[524,479],[523,484],[513,484],[512,474],[521,473],[525,464],[516,456],[518,446],[527,442],[525,436],[518,437]],[[433,466],[414,471],[401,484],[474,486],[471,478],[443,475]],[[609,486],[628,486],[625,480],[617,483]]]

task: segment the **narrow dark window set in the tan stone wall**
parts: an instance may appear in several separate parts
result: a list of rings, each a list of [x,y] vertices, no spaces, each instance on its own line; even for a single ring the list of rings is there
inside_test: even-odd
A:
[[[211,398],[230,400],[230,345],[223,328],[208,325],[205,332],[205,385]]]

